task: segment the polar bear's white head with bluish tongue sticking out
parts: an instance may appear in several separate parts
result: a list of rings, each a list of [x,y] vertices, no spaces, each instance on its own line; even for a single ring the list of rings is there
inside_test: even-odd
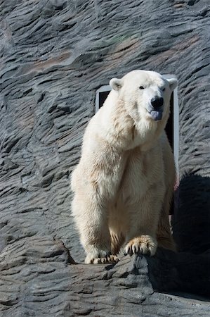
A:
[[[166,80],[150,70],[133,70],[122,79],[110,80],[110,86],[137,124],[141,119],[168,120],[169,101],[177,84],[176,78]]]

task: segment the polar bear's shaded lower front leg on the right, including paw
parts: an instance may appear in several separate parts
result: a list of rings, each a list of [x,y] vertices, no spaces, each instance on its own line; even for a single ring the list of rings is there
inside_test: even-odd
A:
[[[155,254],[163,191],[155,192],[155,189],[151,189],[141,201],[129,208],[131,230],[126,237],[128,243],[124,249],[125,254]]]

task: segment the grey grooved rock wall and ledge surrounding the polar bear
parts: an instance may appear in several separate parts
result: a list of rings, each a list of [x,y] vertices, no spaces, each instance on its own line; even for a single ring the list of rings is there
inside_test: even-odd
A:
[[[1,0],[1,316],[209,316],[189,295],[210,297],[209,11],[208,0]],[[179,81],[181,254],[70,265],[84,260],[70,173],[96,89],[137,68]]]

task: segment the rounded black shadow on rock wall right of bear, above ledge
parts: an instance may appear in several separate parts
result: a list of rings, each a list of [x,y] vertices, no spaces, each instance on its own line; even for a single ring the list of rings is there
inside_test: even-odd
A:
[[[210,178],[186,174],[175,194],[173,237],[178,251],[202,254],[210,249]]]

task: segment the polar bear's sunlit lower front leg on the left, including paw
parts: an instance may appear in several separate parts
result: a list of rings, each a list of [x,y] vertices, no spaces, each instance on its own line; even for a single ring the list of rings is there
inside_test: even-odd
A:
[[[107,213],[97,199],[74,197],[72,214],[79,230],[81,244],[86,251],[85,263],[112,263],[117,261],[111,254],[110,231]]]

